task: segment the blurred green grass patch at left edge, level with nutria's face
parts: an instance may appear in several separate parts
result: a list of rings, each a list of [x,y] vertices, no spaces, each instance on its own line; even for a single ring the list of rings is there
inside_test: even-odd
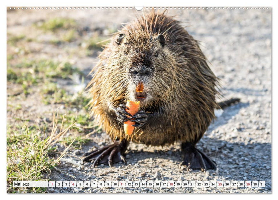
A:
[[[16,70],[15,70],[16,69]],[[88,103],[81,93],[74,97],[69,96],[64,89],[57,87],[55,79],[70,79],[73,74],[82,72],[68,62],[55,62],[49,60],[21,62],[7,68],[7,81],[22,84],[25,95],[32,85],[43,83],[40,91],[45,104],[64,103],[66,106],[83,107]]]

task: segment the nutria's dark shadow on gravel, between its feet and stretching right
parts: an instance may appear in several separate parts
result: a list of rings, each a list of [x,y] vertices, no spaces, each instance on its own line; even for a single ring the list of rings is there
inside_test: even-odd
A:
[[[197,148],[206,153],[208,156],[212,157],[216,160],[220,159],[223,161],[233,163],[232,161],[228,161],[228,159],[233,159],[234,161],[238,160],[238,163],[241,160],[251,161],[254,163],[263,164],[266,162],[267,157],[270,156],[271,159],[271,143],[231,143],[225,140],[217,140],[212,138],[202,139],[200,143],[197,143]],[[130,161],[132,164],[135,164],[139,160],[144,160],[147,158],[160,158],[160,159],[170,159],[174,162],[182,161],[181,150],[180,148],[171,150],[155,150],[154,152],[148,151],[147,147],[145,151],[138,151],[136,149],[131,149],[126,151],[126,155],[128,156],[127,161]],[[155,163],[155,161],[153,161]],[[233,164],[236,164],[235,162]],[[249,163],[250,164],[250,163]],[[239,165],[239,164],[237,164]],[[255,167],[256,165],[254,165]]]

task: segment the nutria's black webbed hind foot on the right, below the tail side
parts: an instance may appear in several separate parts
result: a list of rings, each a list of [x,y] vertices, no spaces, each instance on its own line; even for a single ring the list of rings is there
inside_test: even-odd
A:
[[[194,144],[182,143],[181,147],[182,155],[184,157],[181,166],[186,165],[187,171],[189,169],[201,169],[202,171],[206,171],[207,169],[213,169],[217,171],[218,166],[216,162],[210,159],[202,151],[196,149]]]

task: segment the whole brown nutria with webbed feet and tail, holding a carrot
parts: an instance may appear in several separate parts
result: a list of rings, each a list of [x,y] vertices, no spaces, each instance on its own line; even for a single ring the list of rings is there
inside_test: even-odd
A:
[[[95,159],[93,167],[99,162],[111,167],[125,162],[130,141],[155,146],[181,141],[187,169],[217,168],[195,144],[219,108],[218,78],[179,21],[164,13],[144,14],[115,33],[99,59],[87,86],[89,105],[97,125],[115,143],[86,153],[84,161]],[[143,92],[136,91],[138,84]],[[126,111],[127,100],[140,101],[133,116]],[[127,115],[135,122],[132,135],[123,130]]]

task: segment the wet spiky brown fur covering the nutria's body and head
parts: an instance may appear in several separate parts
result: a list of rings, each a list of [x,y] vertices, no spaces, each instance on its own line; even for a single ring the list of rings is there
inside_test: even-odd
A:
[[[120,33],[126,37],[117,41]],[[163,34],[165,46],[155,38]],[[136,54],[161,50],[155,61],[155,74],[149,84],[153,99],[140,110],[153,113],[146,124],[125,135],[123,124],[113,117],[113,107],[130,99],[129,62],[125,51]],[[138,59],[142,58],[138,57]],[[164,13],[145,13],[115,33],[99,56],[88,84],[91,114],[111,139],[127,139],[146,145],[165,145],[175,141],[197,143],[214,119],[218,79],[209,68],[198,42],[176,21]],[[162,67],[161,67],[162,66]],[[114,118],[114,119],[113,119]]]

